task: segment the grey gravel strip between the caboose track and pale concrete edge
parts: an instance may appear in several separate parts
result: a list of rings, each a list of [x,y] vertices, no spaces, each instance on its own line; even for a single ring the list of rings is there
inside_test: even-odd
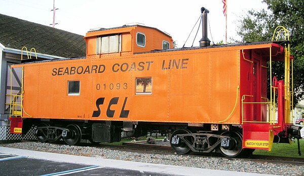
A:
[[[144,154],[125,152],[91,146],[67,146],[49,143],[26,142],[3,144],[3,147],[35,150],[43,152],[63,153],[97,158],[107,158],[144,163],[167,164],[186,167],[198,167],[215,170],[230,170],[239,172],[304,175],[304,167],[290,164],[274,164],[268,162],[253,162],[242,159],[225,159],[217,157],[197,157],[183,155]]]

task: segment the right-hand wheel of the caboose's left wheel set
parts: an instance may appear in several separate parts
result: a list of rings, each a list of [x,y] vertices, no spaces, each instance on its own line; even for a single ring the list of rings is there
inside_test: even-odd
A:
[[[69,129],[69,132],[65,137],[63,137],[64,142],[69,146],[77,145],[81,140],[81,130],[78,125],[71,124],[67,125],[66,128]]]

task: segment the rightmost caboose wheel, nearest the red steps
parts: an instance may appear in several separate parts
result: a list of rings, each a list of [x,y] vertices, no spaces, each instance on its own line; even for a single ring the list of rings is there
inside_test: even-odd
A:
[[[224,149],[223,147],[219,146],[218,150],[219,152],[224,156],[228,158],[233,158],[238,155],[240,155],[242,150],[242,135],[239,132],[236,131],[226,131],[223,132],[221,135],[229,136],[232,140],[232,146],[229,149]]]

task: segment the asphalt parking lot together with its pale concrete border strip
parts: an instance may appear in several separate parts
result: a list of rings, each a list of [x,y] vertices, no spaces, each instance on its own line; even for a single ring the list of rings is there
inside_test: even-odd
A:
[[[248,172],[141,163],[0,147],[0,175],[226,175]]]

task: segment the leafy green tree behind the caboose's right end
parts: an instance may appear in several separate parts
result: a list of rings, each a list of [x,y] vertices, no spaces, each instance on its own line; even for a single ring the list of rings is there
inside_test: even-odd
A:
[[[304,1],[263,0],[268,9],[250,10],[240,20],[238,34],[242,42],[271,41],[279,25],[289,30],[291,54],[294,55],[294,104],[304,95]],[[273,74],[283,79],[284,63],[276,62]]]

